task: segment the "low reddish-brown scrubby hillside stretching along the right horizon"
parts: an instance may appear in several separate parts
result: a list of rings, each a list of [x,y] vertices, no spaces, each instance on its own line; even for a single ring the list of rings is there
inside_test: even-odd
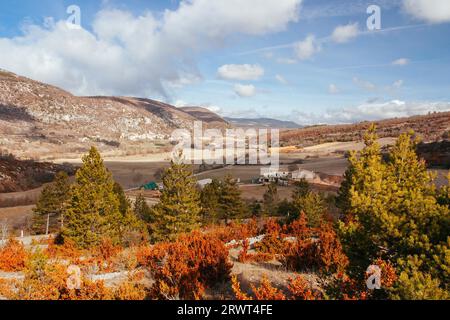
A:
[[[282,146],[307,147],[326,142],[360,140],[364,132],[375,124],[380,138],[398,137],[401,133],[414,130],[424,141],[448,139],[450,112],[431,113],[410,118],[388,119],[375,122],[361,122],[349,125],[312,126],[288,130],[280,134]]]

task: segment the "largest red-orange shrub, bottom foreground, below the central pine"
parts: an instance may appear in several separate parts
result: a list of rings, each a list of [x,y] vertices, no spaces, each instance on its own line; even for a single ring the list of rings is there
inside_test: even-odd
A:
[[[156,244],[147,259],[157,299],[201,299],[205,288],[229,279],[232,267],[225,245],[197,231]]]

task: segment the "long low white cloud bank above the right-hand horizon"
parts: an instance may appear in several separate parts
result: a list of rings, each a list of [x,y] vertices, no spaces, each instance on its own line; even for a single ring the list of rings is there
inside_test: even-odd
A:
[[[329,110],[324,114],[295,114],[296,122],[302,125],[356,123],[390,118],[411,117],[428,112],[450,111],[450,102],[405,102],[392,100],[380,103],[365,103],[356,107]]]

